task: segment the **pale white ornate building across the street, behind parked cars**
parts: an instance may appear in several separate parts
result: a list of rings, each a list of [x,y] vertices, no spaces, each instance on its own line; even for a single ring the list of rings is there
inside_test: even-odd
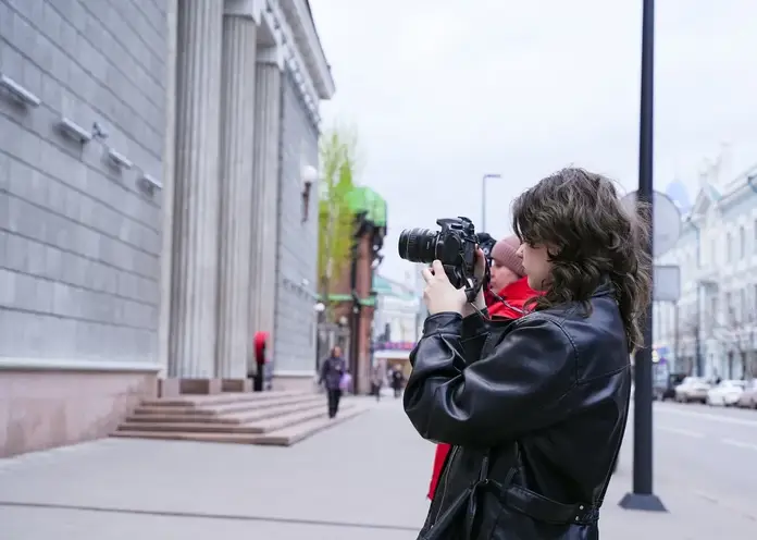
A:
[[[681,269],[679,303],[655,306],[657,356],[671,371],[757,375],[757,168],[703,182],[678,245],[656,263]]]

